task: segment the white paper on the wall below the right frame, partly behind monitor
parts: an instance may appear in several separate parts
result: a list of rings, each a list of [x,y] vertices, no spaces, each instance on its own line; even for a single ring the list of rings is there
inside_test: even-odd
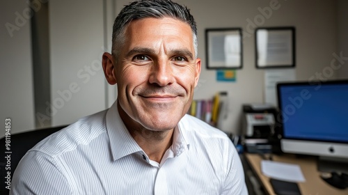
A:
[[[295,69],[265,70],[264,71],[264,102],[278,105],[276,84],[280,81],[296,80]]]

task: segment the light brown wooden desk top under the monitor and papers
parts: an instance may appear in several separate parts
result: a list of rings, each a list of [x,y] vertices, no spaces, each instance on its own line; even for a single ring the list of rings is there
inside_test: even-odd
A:
[[[261,172],[261,160],[260,155],[257,154],[244,154],[246,162],[251,166],[253,173],[258,177],[262,183],[265,191],[268,194],[274,194],[269,178],[264,176]],[[296,158],[294,155],[273,155],[273,160],[276,162],[286,162],[291,164],[298,164],[301,166],[303,176],[306,178],[306,182],[299,182],[299,189],[302,195],[340,195],[348,194],[348,189],[342,190],[332,187],[327,184],[317,171],[317,161],[314,157]]]

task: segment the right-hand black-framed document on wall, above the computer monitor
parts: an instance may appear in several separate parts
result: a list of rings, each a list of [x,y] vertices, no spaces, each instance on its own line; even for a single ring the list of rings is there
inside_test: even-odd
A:
[[[290,68],[295,66],[295,28],[255,29],[256,68]]]

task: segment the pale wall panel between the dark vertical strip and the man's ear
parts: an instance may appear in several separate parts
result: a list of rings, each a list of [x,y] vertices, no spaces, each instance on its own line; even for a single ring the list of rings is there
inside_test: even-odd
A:
[[[49,1],[53,126],[106,108],[103,13],[103,1]]]

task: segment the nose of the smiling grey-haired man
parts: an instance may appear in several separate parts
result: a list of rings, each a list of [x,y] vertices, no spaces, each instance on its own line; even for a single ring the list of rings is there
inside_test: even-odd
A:
[[[153,66],[149,78],[150,84],[166,86],[173,84],[173,65],[170,61],[159,60]]]

